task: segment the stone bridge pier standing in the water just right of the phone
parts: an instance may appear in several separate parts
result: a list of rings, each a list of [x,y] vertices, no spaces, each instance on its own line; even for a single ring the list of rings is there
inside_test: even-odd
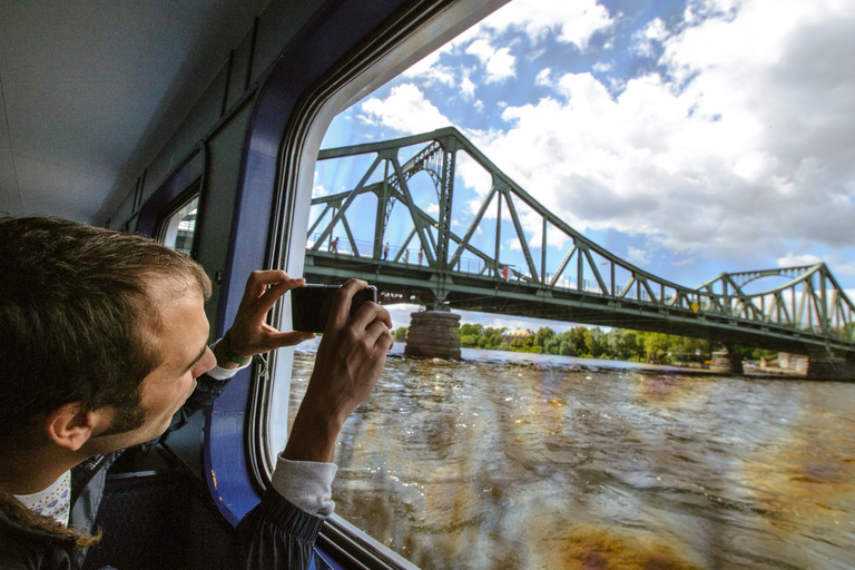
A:
[[[460,360],[460,315],[448,311],[410,314],[404,356]]]

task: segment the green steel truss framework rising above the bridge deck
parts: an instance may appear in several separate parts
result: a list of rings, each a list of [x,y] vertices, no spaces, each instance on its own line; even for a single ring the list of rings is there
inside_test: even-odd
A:
[[[405,163],[399,160],[399,150],[415,145],[425,146]],[[481,204],[475,205],[476,214],[469,208],[474,217],[468,222],[465,233],[456,234],[452,229],[452,194],[454,168],[461,150],[491,176],[492,186],[480,197]],[[667,320],[667,315],[675,312],[696,313],[699,318],[726,321],[735,330],[750,323],[753,327],[777,326],[799,334],[807,331],[855,344],[855,305],[822,264],[723,275],[700,287],[686,287],[646,272],[586,238],[538,203],[454,128],[326,149],[320,153],[318,161],[354,156],[365,157],[366,164],[373,157],[371,166],[361,175],[361,181],[353,189],[312,199],[312,206],[320,214],[308,229],[308,247],[314,252],[335,249],[341,255],[421,265],[452,275],[462,273],[494,281],[507,278],[519,284],[520,291],[524,288],[529,293],[570,291],[582,296],[607,297],[618,304],[640,303],[656,307],[650,312],[651,318]],[[411,179],[420,171],[430,175],[435,196],[414,197],[414,193],[423,191],[419,184],[410,188]],[[347,214],[352,212],[348,208],[368,195],[373,196],[365,204],[372,204],[370,209],[376,210],[377,215],[365,219],[366,209],[354,208],[358,213],[348,220]],[[404,225],[412,230],[401,244],[391,245],[384,257],[379,254],[382,252],[380,243],[385,242],[383,236],[390,227],[393,207],[395,216],[406,218]],[[316,228],[321,229],[320,234],[314,232]],[[373,242],[354,238],[360,232],[365,235],[368,229],[373,229]],[[346,235],[334,235],[340,232]],[[493,233],[494,253],[492,245],[490,252],[479,247],[478,244],[484,240],[476,236],[484,233]],[[336,240],[336,247],[333,247],[333,240]],[[519,246],[524,257],[521,266],[500,263],[500,249],[511,240],[515,240],[514,246]],[[417,247],[410,247],[411,244],[417,244]],[[548,255],[548,246],[554,244],[562,244],[560,247],[563,248],[563,258],[558,264],[558,258]],[[419,248],[423,248],[421,263]],[[519,257],[513,255],[513,258]],[[743,291],[755,278],[775,273],[792,277],[792,282],[759,294]]]

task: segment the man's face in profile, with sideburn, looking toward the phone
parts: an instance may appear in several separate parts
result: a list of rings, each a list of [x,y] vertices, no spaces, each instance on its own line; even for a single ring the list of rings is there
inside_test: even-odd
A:
[[[196,379],[216,366],[208,341],[208,320],[204,299],[195,288],[176,294],[175,284],[155,282],[153,298],[160,308],[161,330],[155,343],[163,355],[160,365],[140,385],[140,409],[144,423],[124,433],[99,436],[92,433],[89,446],[106,453],[151,441],[169,426],[173,415],[184,405],[196,387]]]

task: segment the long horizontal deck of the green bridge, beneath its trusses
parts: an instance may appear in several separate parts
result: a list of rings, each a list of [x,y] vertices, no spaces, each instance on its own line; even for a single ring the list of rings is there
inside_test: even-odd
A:
[[[758,348],[810,354],[826,346],[842,356],[851,344],[809,331],[794,331],[775,323],[711,315],[684,308],[667,308],[633,298],[615,298],[594,292],[547,288],[523,281],[497,279],[463,272],[440,272],[428,266],[404,265],[352,255],[315,252],[306,255],[304,276],[315,283],[340,283],[357,277],[381,292],[401,292],[416,302],[435,301],[440,282],[452,309],[480,311],[551,321],[651,331],[707,338]]]

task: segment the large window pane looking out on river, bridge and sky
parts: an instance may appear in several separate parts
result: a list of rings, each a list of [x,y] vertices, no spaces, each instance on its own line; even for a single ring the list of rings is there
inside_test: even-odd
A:
[[[822,325],[806,295],[855,291],[853,23],[852,2],[513,0],[340,114],[304,274],[377,284],[400,342],[342,431],[336,512],[425,569],[845,568],[855,384],[684,325],[738,305],[686,288],[825,261],[839,285],[751,303],[851,337],[848,301]],[[657,302],[682,313],[620,308]],[[425,309],[460,315],[460,360],[407,356]]]

